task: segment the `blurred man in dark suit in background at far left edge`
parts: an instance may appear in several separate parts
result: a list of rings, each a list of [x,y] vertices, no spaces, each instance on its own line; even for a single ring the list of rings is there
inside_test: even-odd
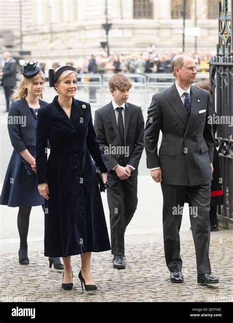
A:
[[[16,86],[16,61],[11,57],[9,52],[4,52],[2,58],[5,61],[3,66],[3,71],[0,72],[2,76],[1,85],[4,88],[5,98],[6,98],[6,110],[9,111],[10,97]]]

